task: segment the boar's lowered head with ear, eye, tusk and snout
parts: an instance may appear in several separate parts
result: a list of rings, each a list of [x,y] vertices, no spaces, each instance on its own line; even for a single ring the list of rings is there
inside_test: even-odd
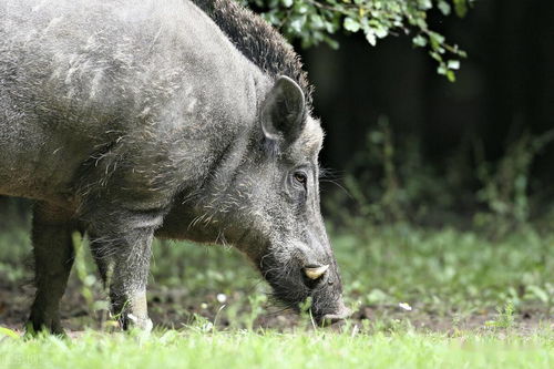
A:
[[[317,321],[345,318],[349,312],[319,208],[319,122],[286,76],[266,95],[258,120],[249,148],[256,155],[242,171],[248,180],[237,178],[249,206],[239,219],[247,228],[238,246],[286,306],[298,309],[310,297]]]

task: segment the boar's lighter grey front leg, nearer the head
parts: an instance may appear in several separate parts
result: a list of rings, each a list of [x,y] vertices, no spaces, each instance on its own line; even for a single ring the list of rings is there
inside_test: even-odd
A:
[[[104,206],[89,223],[91,247],[112,311],[123,329],[152,329],[146,306],[146,284],[154,230],[162,212],[110,209]]]

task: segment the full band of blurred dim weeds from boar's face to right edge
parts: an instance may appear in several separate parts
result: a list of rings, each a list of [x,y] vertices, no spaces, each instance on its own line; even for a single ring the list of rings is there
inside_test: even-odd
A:
[[[380,116],[347,167],[345,191],[326,197],[325,208],[339,224],[355,217],[372,224],[455,224],[504,236],[529,226],[548,207],[530,194],[531,170],[554,143],[554,130],[519,135],[495,161],[486,160],[480,140],[462,140],[434,166],[424,162],[421,137],[399,140],[394,133],[388,117]]]

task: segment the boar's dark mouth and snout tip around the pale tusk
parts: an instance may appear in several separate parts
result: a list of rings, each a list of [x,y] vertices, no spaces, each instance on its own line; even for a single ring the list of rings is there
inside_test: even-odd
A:
[[[332,264],[325,278],[312,280],[304,271],[305,267],[288,259],[279,263],[274,255],[266,255],[258,264],[261,275],[271,286],[271,296],[278,305],[300,312],[300,307],[311,298],[309,310],[315,321],[327,326],[350,316],[342,303],[342,287]]]

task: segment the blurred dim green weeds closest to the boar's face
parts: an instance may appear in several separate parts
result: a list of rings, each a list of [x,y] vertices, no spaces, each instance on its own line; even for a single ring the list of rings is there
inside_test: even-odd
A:
[[[456,199],[468,191],[462,188],[464,176],[472,175],[462,171],[463,160],[452,160],[447,173],[440,173],[425,165],[420,139],[398,140],[394,133],[388,117],[379,117],[347,168],[345,191],[327,196],[325,207],[341,223],[359,216],[373,224],[451,224]],[[341,211],[343,206],[351,211]]]

